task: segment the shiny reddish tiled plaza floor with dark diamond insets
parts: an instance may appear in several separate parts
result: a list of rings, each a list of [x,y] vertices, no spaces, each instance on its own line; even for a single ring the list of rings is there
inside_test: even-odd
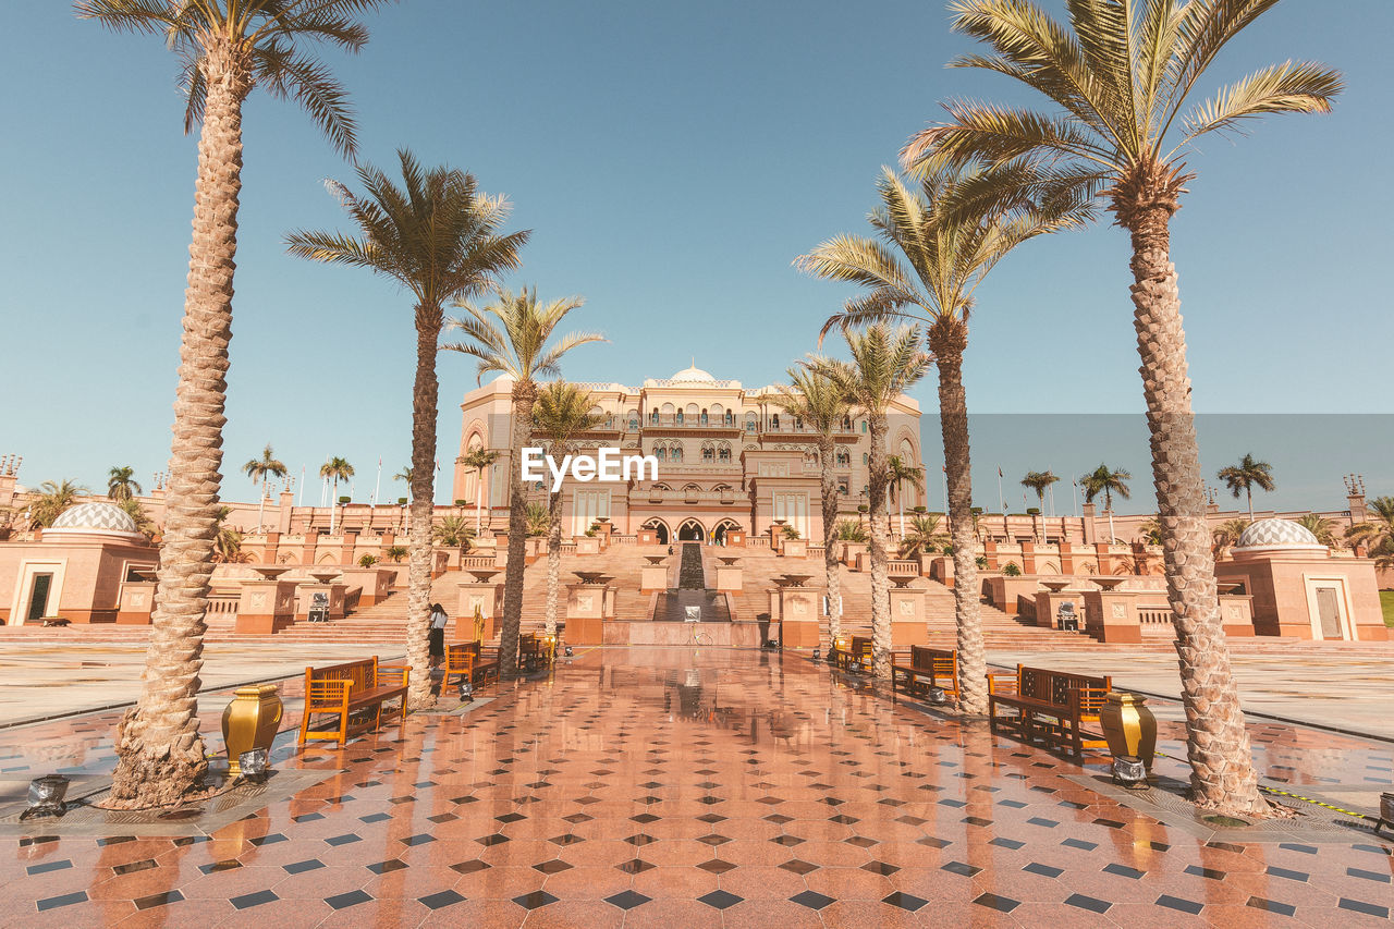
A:
[[[0,732],[0,767],[107,770],[110,723]],[[1388,743],[1253,737],[1294,785],[1394,778]],[[1394,843],[1207,844],[793,656],[579,651],[467,716],[277,756],[343,773],[212,838],[0,840],[0,923],[1358,926],[1394,904]]]

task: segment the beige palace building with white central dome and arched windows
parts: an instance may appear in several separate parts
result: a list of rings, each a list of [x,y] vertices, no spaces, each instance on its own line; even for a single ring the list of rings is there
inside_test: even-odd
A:
[[[498,378],[466,395],[454,498],[475,506],[481,484],[489,524],[507,523],[512,381]],[[643,386],[581,384],[604,421],[580,441],[580,452],[601,446],[622,455],[652,455],[658,480],[563,484],[563,534],[581,536],[608,520],[623,536],[652,533],[655,541],[722,543],[728,533],[760,536],[776,520],[803,538],[822,538],[817,434],[772,402],[775,386],[746,388],[697,367],[652,378]],[[920,407],[902,395],[888,411],[887,453],[921,467]],[[834,473],[842,498],[839,519],[856,520],[867,506],[871,437],[864,416],[838,430]],[[534,442],[541,444],[541,442]],[[481,477],[463,464],[475,449],[498,452]],[[534,484],[538,502],[544,483]],[[923,491],[903,488],[906,511],[923,505]]]

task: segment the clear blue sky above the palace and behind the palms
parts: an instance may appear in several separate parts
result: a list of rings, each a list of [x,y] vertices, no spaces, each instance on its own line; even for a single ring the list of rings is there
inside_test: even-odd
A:
[[[181,134],[177,63],[158,39],[109,33],[60,0],[11,6],[0,31],[0,452],[25,456],[25,484],[98,487],[112,464],[148,483],[169,455],[192,211],[195,138]],[[513,227],[534,230],[510,283],[585,296],[577,324],[612,342],[579,349],[567,378],[637,384],[696,356],[717,377],[760,385],[814,347],[846,296],[790,259],[866,229],[877,170],[938,100],[1018,93],[945,70],[970,47],[947,22],[938,0],[407,0],[369,21],[361,56],[325,57],[353,95],[367,160],[388,165],[406,145],[474,172],[510,197]],[[1333,116],[1267,120],[1190,158],[1199,177],[1172,241],[1199,410],[1390,411],[1379,346],[1394,336],[1381,283],[1391,33],[1388,0],[1285,0],[1213,68],[1218,80],[1312,57],[1349,86]],[[410,301],[365,272],[284,254],[290,229],[344,226],[322,179],[351,170],[298,109],[263,92],[244,130],[224,497],[252,497],[238,466],[269,441],[297,473],[347,458],[365,499],[379,455],[386,476],[408,456]],[[1129,280],[1126,236],[1107,226],[1004,262],[980,290],[970,407],[1140,411]],[[439,372],[450,462],[474,374],[450,354]],[[931,384],[914,391],[927,410]],[[1374,435],[1349,448],[1296,430],[1218,430],[1204,464],[1213,473],[1245,451],[1273,462],[1282,490],[1270,499],[1282,506],[1337,506],[1347,471],[1394,492],[1390,420],[1359,423]],[[1009,477],[1079,474],[1100,458],[1129,467],[1147,495],[1136,428],[1058,432],[1026,442],[986,430],[977,501],[995,506],[998,464]]]

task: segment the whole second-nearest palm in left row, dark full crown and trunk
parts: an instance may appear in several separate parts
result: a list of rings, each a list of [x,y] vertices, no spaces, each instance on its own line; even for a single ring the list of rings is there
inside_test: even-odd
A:
[[[436,409],[441,384],[436,352],[445,307],[473,297],[519,266],[527,232],[500,234],[509,215],[503,197],[480,191],[473,174],[453,167],[424,169],[407,151],[397,152],[401,186],[383,172],[362,166],[364,194],[333,184],[358,237],[298,232],[290,252],[312,261],[367,268],[413,296],[417,371],[411,386],[411,558],[407,568],[407,658],[410,702],[429,706],[431,516],[435,509]]]

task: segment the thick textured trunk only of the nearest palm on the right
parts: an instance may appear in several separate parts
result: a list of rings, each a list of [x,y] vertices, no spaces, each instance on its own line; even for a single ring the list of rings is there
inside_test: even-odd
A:
[[[1168,255],[1171,209],[1150,205],[1125,215],[1132,233],[1133,325],[1151,432],[1167,591],[1177,626],[1192,794],[1203,809],[1263,816],[1267,805],[1259,795],[1216,593],[1186,335],[1177,269]]]

